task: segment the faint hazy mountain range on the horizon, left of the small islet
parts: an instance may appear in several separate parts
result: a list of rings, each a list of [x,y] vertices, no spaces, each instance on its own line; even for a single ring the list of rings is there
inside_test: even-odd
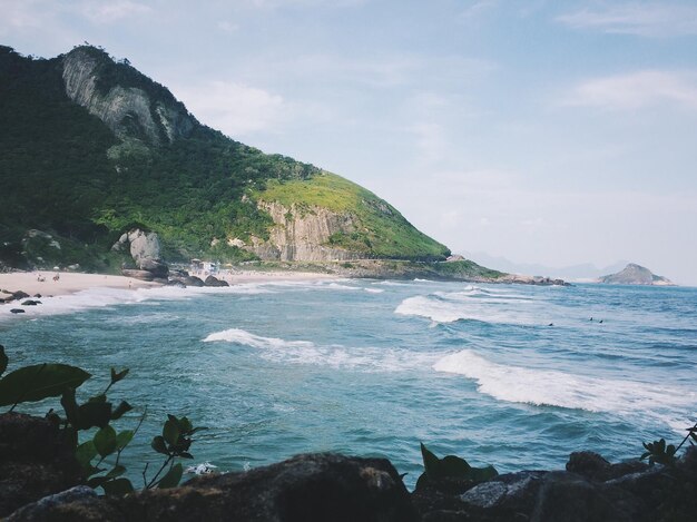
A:
[[[474,260],[475,263],[479,263],[480,265],[489,266],[501,272],[508,272],[511,274],[544,275],[576,282],[596,280],[606,274],[612,274],[621,270],[628,264],[627,260],[620,260],[601,268],[598,268],[596,265],[590,263],[554,267],[533,263],[516,263],[507,259],[505,257],[491,256],[483,252],[465,252],[462,253],[462,255]]]

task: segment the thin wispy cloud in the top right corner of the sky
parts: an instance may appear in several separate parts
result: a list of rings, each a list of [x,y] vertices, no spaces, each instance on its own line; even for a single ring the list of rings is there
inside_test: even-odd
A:
[[[602,9],[582,9],[557,21],[575,29],[598,29],[615,35],[677,37],[697,35],[697,6],[627,2]]]

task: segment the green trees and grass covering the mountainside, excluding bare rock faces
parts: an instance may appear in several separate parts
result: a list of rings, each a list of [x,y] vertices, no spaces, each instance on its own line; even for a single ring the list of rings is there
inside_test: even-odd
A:
[[[127,60],[116,62],[92,47],[77,50],[99,60],[98,91],[137,88],[149,97],[151,110],[158,100],[186,110]],[[63,60],[26,58],[0,47],[0,263],[16,265],[27,230],[36,228],[50,233],[61,248],[70,243],[82,268],[106,269],[115,265],[111,244],[136,226],[159,234],[169,260],[254,258],[225,239],[268,237],[273,221],[257,208],[257,198],[352,213],[360,229],[337,234],[331,243],[366,257],[448,254],[357,185],[263,154],[194,119],[193,129],[171,142],[149,144],[137,132],[117,138],[68,98]],[[65,252],[60,258],[51,252],[41,256],[45,264],[65,262]]]

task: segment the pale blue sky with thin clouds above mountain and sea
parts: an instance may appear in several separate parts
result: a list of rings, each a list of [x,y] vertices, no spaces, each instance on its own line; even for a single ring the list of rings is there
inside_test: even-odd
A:
[[[0,0],[199,121],[340,174],[454,253],[697,286],[697,1]]]

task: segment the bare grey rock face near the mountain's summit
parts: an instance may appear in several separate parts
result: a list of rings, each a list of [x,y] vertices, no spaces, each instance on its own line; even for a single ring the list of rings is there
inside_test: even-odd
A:
[[[92,48],[77,48],[62,59],[66,93],[76,104],[97,116],[120,139],[135,137],[151,145],[173,142],[188,136],[196,120],[186,110],[154,100],[139,87],[99,86],[102,66],[131,69],[116,65]],[[135,70],[131,75],[136,75]]]

